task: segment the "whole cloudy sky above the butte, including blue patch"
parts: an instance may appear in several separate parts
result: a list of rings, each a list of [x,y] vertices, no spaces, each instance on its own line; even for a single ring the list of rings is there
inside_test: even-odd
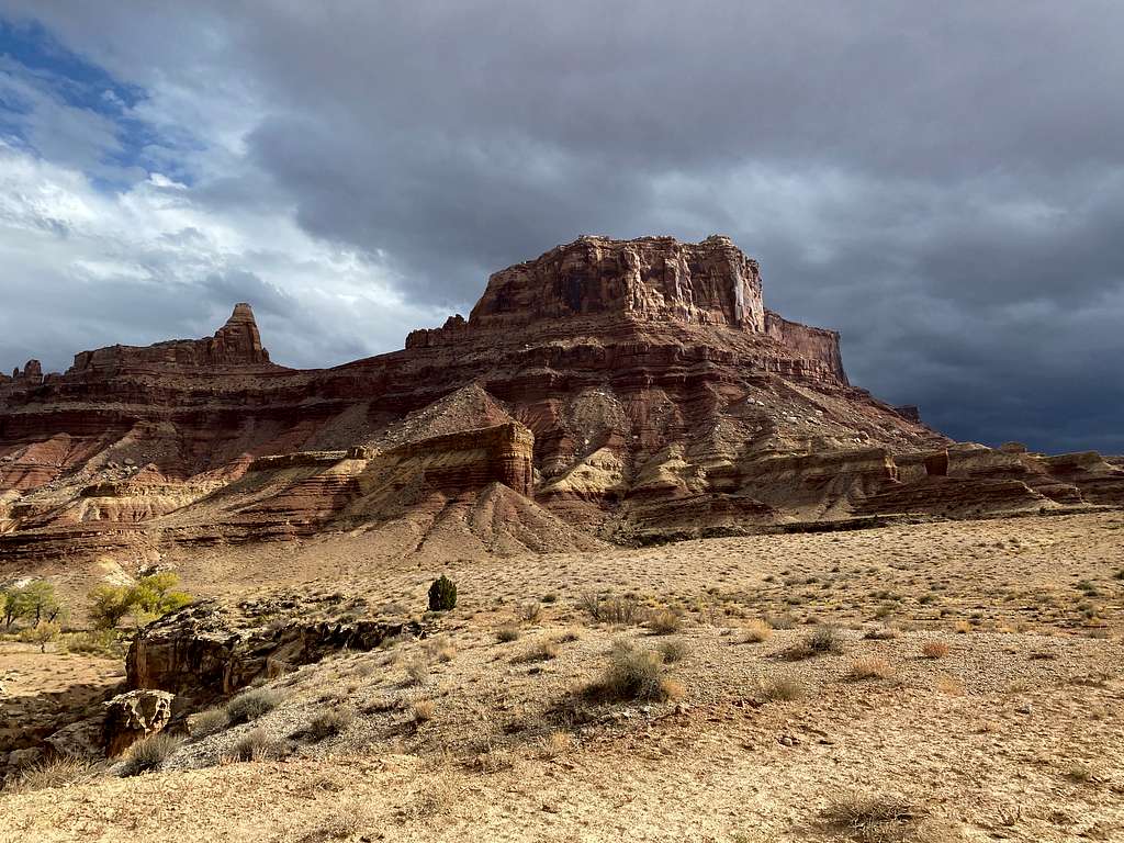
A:
[[[334,365],[581,234],[726,234],[853,383],[1124,453],[1116,0],[0,0],[0,366]]]

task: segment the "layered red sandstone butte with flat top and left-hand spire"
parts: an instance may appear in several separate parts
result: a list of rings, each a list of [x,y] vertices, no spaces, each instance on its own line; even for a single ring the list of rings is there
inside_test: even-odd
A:
[[[727,237],[580,237],[333,369],[212,337],[0,375],[0,563],[324,532],[554,551],[1124,504],[1124,466],[954,443],[851,386]]]

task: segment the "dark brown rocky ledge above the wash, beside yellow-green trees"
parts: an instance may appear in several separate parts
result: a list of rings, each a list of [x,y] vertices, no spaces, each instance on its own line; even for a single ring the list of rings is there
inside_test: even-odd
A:
[[[200,601],[142,629],[126,658],[128,686],[192,701],[232,694],[259,677],[319,661],[338,650],[373,650],[428,627],[406,618],[338,617],[342,598],[281,597],[225,606]]]

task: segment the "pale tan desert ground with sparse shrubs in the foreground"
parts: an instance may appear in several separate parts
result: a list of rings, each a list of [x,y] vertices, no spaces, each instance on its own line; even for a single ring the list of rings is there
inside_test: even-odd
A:
[[[420,563],[361,534],[175,562],[198,595],[420,610],[444,572],[460,600],[434,638],[274,680],[273,710],[156,772],[0,795],[0,841],[1124,840],[1120,513]],[[592,619],[593,593],[635,615]],[[670,698],[583,691],[636,651],[665,653]],[[325,713],[347,716],[309,736]],[[233,760],[253,732],[285,756]]]

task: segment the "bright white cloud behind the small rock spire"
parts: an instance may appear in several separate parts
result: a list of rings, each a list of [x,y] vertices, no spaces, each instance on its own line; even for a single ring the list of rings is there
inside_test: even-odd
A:
[[[293,365],[401,347],[443,315],[404,301],[355,250],[316,241],[292,208],[223,210],[153,173],[107,193],[78,170],[0,143],[0,353],[49,368],[116,342],[212,332],[236,300],[257,299],[264,341]]]

